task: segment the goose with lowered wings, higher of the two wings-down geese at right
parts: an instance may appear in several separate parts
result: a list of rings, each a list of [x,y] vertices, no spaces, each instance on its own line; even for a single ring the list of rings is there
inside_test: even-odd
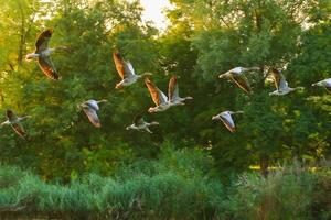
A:
[[[250,94],[252,88],[249,85],[249,81],[247,77],[244,75],[246,72],[250,70],[259,70],[259,67],[235,67],[233,69],[229,69],[225,74],[221,74],[218,78],[226,78],[233,80],[241,89],[243,89],[245,92]]]

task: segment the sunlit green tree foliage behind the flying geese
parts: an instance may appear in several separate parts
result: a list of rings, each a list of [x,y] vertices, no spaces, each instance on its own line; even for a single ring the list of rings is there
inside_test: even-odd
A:
[[[1,128],[2,163],[28,166],[44,179],[68,182],[79,174],[113,174],[118,166],[156,158],[163,143],[200,147],[214,160],[215,173],[245,170],[297,157],[330,157],[330,95],[311,84],[330,77],[330,3],[323,0],[171,0],[171,26],[159,33],[141,21],[139,1],[0,1],[0,109],[31,114],[24,141]],[[36,63],[23,61],[38,34],[53,28],[51,45],[70,52],[53,56],[62,80],[49,80]],[[167,90],[179,76],[180,94],[194,97],[185,107],[148,114],[159,121],[154,134],[126,131],[151,99],[142,80],[116,90],[119,80],[111,51],[118,48],[138,74]],[[258,66],[247,96],[217,75],[235,66]],[[290,85],[274,90],[271,67]],[[89,124],[77,103],[107,99],[102,129]],[[244,110],[237,132],[211,120],[223,110]]]

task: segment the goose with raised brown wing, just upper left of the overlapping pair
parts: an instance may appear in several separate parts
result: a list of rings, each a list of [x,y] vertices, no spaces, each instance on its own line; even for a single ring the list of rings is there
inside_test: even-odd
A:
[[[151,73],[145,73],[137,75],[130,62],[126,62],[118,51],[113,52],[113,59],[115,63],[116,70],[121,78],[121,81],[116,84],[116,89],[122,88],[125,86],[130,86],[135,84],[139,78],[143,76],[151,76]]]

